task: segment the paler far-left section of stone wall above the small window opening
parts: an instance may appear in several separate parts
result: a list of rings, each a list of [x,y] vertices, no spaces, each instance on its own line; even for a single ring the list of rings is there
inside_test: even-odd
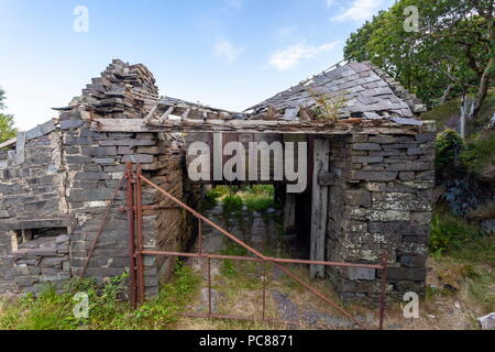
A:
[[[61,133],[48,121],[20,133],[16,150],[0,151],[0,294],[20,290],[12,230],[64,228],[70,222],[61,145]]]

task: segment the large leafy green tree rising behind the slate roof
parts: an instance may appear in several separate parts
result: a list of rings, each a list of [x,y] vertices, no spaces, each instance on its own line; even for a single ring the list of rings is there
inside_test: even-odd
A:
[[[405,10],[419,10],[406,31]],[[429,106],[474,95],[476,114],[493,80],[492,0],[399,0],[349,37],[344,55],[385,69]]]

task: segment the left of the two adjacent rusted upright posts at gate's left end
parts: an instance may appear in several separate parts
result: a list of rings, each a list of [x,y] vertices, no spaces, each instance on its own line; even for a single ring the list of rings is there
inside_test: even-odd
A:
[[[135,309],[138,307],[138,290],[136,290],[136,273],[135,273],[135,223],[134,223],[134,177],[132,172],[132,164],[125,164],[125,199],[128,205],[128,228],[129,228],[129,271],[130,271],[130,287],[129,287],[129,298],[131,300],[132,307]]]

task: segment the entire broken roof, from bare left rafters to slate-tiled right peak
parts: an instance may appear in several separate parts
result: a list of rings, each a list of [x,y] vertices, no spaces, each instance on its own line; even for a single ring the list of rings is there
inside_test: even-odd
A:
[[[333,121],[324,121],[328,116],[318,116],[317,110],[321,112],[321,108],[333,110]],[[186,122],[279,120],[324,123],[362,119],[419,125],[421,121],[418,117],[422,111],[426,111],[422,102],[385,72],[371,63],[350,62],[282,91],[244,112],[162,98],[146,117],[145,124],[176,124],[172,120],[178,117]]]

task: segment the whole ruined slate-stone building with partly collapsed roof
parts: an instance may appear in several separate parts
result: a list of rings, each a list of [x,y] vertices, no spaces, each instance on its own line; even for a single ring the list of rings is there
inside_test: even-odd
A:
[[[299,166],[308,167],[308,185],[282,198],[285,226],[308,238],[312,260],[378,263],[386,252],[392,297],[424,290],[435,125],[420,120],[416,97],[371,64],[336,66],[230,112],[161,97],[145,66],[116,59],[57,110],[57,119],[0,145],[0,294],[80,274],[113,195],[85,275],[105,279],[129,270],[125,191],[118,188],[125,162],[141,164],[147,178],[193,208],[201,199],[202,186],[187,177],[180,132],[187,141],[209,141],[212,133],[307,141],[308,165]],[[145,186],[143,205],[147,249],[190,249],[197,232],[188,213]],[[144,264],[152,297],[174,263],[146,256]],[[315,266],[311,273],[343,298],[377,297],[376,270]]]

